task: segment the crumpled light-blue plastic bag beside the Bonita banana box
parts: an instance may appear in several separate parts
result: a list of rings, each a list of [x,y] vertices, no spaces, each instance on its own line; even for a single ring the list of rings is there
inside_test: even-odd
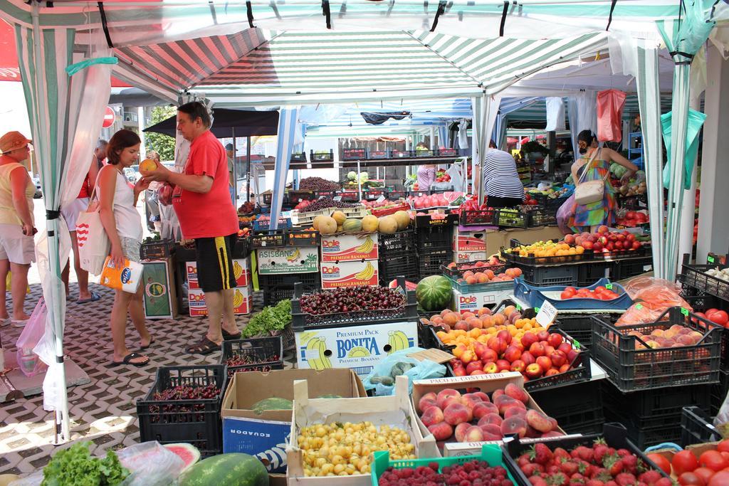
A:
[[[409,391],[413,391],[413,380],[426,380],[445,376],[445,366],[429,359],[418,361],[410,358],[408,354],[422,351],[422,348],[408,348],[396,351],[378,364],[372,372],[364,378],[362,383],[365,390],[374,390],[375,396],[394,395],[395,377],[408,377]]]

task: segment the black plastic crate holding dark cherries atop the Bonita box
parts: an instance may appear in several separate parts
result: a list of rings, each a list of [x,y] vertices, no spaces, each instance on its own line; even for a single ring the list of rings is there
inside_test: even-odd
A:
[[[405,282],[402,282],[405,288]],[[323,290],[326,292],[327,290]],[[418,302],[415,291],[408,291],[405,305],[396,309],[384,310],[358,310],[346,313],[332,313],[314,315],[303,312],[299,297],[304,294],[303,286],[297,284],[294,288],[294,298],[291,301],[292,326],[295,332],[305,329],[321,329],[329,327],[357,326],[362,324],[386,324],[391,322],[418,321]]]

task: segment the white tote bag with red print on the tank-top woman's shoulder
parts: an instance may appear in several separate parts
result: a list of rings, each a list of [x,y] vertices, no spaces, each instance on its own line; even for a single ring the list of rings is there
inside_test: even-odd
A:
[[[79,213],[76,220],[76,241],[79,246],[79,264],[82,269],[91,275],[101,275],[104,270],[104,260],[109,256],[112,243],[106,235],[104,224],[101,223],[99,207],[101,204],[95,199],[97,184],[91,193],[91,199],[86,211]]]

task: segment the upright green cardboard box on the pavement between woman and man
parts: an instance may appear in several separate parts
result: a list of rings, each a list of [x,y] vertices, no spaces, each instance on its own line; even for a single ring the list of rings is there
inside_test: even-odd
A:
[[[142,262],[144,317],[171,319],[177,316],[177,291],[174,264],[171,258]]]

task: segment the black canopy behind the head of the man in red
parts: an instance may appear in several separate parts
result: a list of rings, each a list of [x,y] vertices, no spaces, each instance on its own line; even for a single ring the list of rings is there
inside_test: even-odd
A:
[[[278,111],[248,111],[213,109],[211,132],[216,138],[230,138],[235,130],[236,137],[276,135],[278,132]],[[176,117],[144,129],[145,132],[163,133],[174,137],[177,131]]]

